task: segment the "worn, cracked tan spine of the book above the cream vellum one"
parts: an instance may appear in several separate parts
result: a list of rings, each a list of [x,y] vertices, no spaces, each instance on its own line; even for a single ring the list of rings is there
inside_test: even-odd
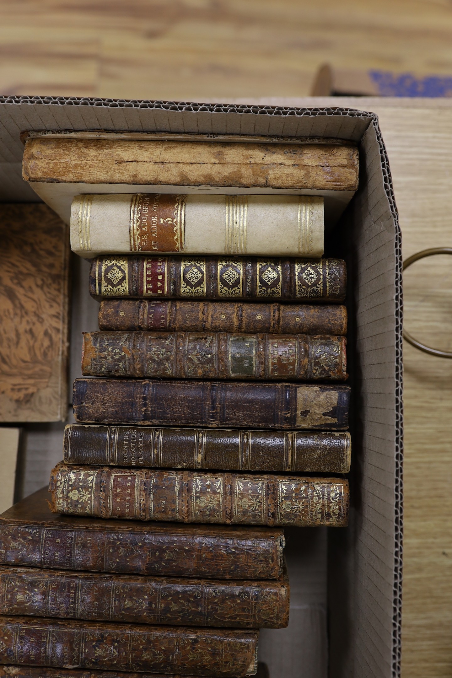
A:
[[[350,144],[28,139],[27,181],[356,191]]]

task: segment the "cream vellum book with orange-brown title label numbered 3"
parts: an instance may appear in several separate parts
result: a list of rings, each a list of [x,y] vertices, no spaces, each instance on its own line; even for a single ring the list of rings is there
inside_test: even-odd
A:
[[[98,254],[181,252],[319,257],[323,198],[305,195],[77,195],[70,246]]]

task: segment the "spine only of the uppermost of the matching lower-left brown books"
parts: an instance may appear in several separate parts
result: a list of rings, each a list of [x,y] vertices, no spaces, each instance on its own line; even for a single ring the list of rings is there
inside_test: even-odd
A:
[[[254,580],[277,579],[283,567],[281,534],[236,535],[233,529],[225,536],[119,531],[108,523],[96,530],[0,523],[0,540],[1,565],[52,570]]]

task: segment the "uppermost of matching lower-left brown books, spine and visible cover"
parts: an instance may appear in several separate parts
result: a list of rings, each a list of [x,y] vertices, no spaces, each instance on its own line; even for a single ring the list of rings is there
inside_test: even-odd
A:
[[[208,579],[278,579],[280,527],[174,525],[50,511],[47,487],[0,515],[0,563]]]

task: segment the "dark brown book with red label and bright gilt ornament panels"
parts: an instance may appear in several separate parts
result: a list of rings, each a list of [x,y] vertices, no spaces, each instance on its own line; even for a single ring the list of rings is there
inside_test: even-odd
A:
[[[92,260],[89,292],[102,298],[281,299],[342,302],[342,259],[265,257],[99,256]]]

